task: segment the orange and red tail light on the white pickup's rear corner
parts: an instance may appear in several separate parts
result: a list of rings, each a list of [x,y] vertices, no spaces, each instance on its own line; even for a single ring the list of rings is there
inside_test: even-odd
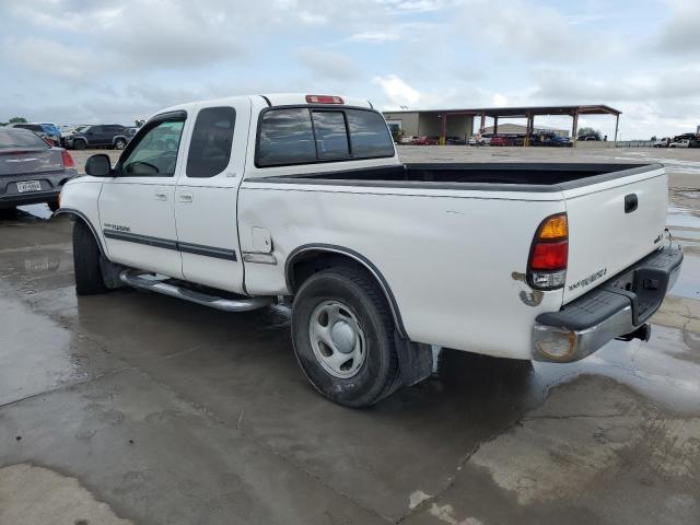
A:
[[[545,219],[535,234],[527,264],[527,281],[537,290],[564,285],[569,264],[569,222],[565,213]]]

